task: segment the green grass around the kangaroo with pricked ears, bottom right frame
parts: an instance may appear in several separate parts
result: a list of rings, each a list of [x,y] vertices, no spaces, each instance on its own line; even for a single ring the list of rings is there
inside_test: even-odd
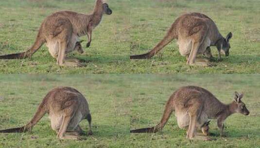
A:
[[[133,75],[131,129],[155,126],[170,95],[181,86],[197,85],[208,89],[219,100],[230,103],[234,92],[243,92],[249,116],[234,114],[225,120],[226,137],[220,137],[216,120],[210,124],[215,141],[189,141],[186,130],[179,129],[174,115],[161,133],[131,134],[134,148],[259,148],[259,75]]]

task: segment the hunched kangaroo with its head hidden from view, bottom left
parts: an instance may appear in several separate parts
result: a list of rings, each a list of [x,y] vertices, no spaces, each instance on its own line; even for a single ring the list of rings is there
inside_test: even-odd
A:
[[[88,134],[91,130],[91,114],[86,98],[76,89],[58,87],[52,89],[42,100],[32,120],[23,127],[4,129],[0,132],[26,132],[31,131],[35,124],[49,114],[52,129],[57,132],[59,139],[78,139],[83,132],[79,123],[87,119],[89,124]]]

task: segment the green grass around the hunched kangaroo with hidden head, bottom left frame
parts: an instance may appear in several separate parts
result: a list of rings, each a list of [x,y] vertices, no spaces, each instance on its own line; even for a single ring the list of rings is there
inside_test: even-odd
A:
[[[32,133],[1,133],[0,148],[122,148],[130,137],[129,80],[124,75],[0,75],[0,129],[26,124],[47,92],[70,86],[87,98],[94,133],[82,141],[59,141],[45,115]],[[87,120],[81,127],[87,131]]]

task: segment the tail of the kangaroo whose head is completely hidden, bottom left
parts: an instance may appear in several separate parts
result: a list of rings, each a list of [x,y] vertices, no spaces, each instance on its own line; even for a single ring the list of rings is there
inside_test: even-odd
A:
[[[3,129],[0,130],[1,132],[10,133],[10,132],[26,132],[31,131],[31,129],[35,126],[35,124],[44,116],[47,112],[46,106],[44,101],[39,105],[34,117],[32,120],[25,126],[19,128],[12,128],[12,129]]]

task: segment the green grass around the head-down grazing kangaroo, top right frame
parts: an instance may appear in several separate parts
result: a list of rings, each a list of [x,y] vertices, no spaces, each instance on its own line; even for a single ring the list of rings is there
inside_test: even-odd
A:
[[[176,40],[149,60],[133,60],[132,73],[260,73],[259,0],[133,0],[131,1],[131,55],[144,54],[166,34],[173,21],[187,12],[201,12],[213,19],[220,33],[230,40],[229,57],[214,67],[191,67],[179,54]],[[217,49],[211,48],[217,57]]]

